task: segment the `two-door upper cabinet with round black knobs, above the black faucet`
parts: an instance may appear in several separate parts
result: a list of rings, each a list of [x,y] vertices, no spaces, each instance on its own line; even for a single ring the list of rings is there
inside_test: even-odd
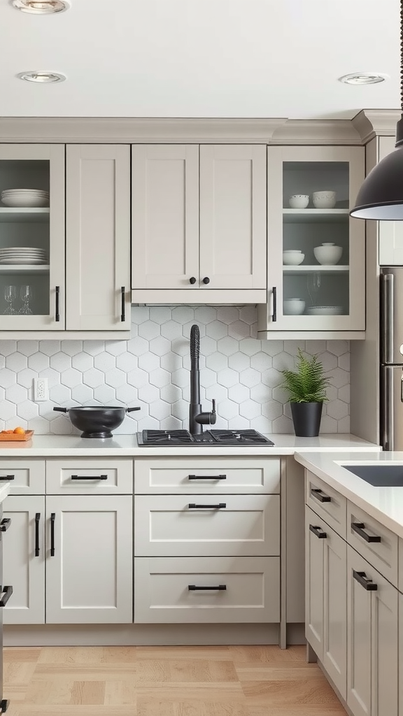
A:
[[[266,148],[132,152],[133,301],[265,300]]]

